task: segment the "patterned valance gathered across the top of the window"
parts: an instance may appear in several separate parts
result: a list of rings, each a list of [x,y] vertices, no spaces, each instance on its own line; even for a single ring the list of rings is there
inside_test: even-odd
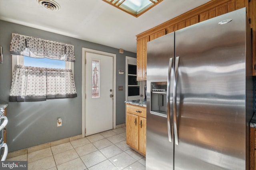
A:
[[[34,58],[49,58],[74,62],[74,45],[49,41],[40,38],[13,34],[10,52]]]

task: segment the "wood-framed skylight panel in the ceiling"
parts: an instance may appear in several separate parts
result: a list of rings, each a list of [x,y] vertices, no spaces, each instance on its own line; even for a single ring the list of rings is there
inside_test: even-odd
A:
[[[163,0],[103,0],[120,10],[138,17]]]

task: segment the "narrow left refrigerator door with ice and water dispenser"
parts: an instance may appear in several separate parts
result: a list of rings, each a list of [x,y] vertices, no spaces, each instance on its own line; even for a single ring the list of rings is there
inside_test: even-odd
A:
[[[170,170],[173,168],[174,154],[174,143],[170,142],[173,141],[173,83],[171,82],[173,82],[174,72],[174,59],[171,63],[170,59],[174,57],[174,33],[148,42],[147,48],[146,169]],[[171,74],[169,76],[168,70]],[[167,83],[168,78],[169,82]],[[170,92],[170,95],[166,95],[166,91]],[[170,102],[167,104],[168,100]],[[170,113],[166,113],[167,106]],[[170,116],[170,121],[168,121],[167,115]],[[171,128],[169,136],[168,127]]]

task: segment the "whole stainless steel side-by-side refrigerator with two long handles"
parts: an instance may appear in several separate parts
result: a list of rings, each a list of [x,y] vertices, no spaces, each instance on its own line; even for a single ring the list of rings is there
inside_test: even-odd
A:
[[[245,8],[148,42],[146,170],[249,169],[251,46]]]

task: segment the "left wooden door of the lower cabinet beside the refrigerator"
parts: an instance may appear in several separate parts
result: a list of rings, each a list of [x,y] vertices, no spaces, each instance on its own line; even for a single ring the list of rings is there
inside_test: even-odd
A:
[[[138,150],[138,125],[139,117],[126,113],[126,143]]]

